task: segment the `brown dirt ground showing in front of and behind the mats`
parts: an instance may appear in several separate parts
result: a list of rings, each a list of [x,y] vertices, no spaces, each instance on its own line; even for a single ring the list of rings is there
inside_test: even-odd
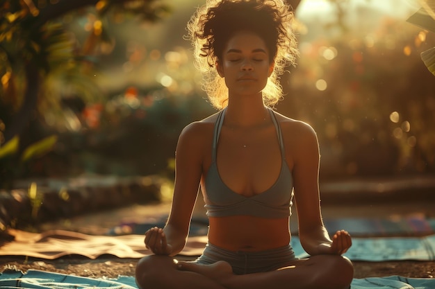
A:
[[[360,205],[334,205],[323,207],[324,218],[340,217],[388,217],[424,214],[434,218],[434,203],[431,202],[405,202],[397,204],[360,204]],[[135,205],[108,212],[93,213],[78,216],[71,220],[58,220],[40,226],[45,229],[69,229],[84,234],[104,234],[108,229],[119,225],[120,222],[146,220],[167,214],[170,204]],[[195,214],[202,214],[202,204],[199,202]],[[296,222],[296,218],[293,222]],[[138,259],[118,259],[113,256],[101,256],[96,260],[81,256],[66,256],[56,260],[28,259],[24,256],[0,257],[0,271],[6,268],[16,268],[26,271],[28,269],[75,274],[83,277],[116,278],[118,275],[133,276]],[[413,278],[434,278],[434,261],[387,261],[387,262],[354,262],[355,278],[386,277],[400,275]]]

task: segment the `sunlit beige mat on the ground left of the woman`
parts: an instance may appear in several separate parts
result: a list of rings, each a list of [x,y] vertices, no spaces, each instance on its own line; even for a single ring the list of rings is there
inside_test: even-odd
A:
[[[104,254],[119,258],[142,258],[151,254],[151,251],[145,248],[142,235],[90,236],[62,230],[35,234],[13,229],[9,234],[15,236],[15,240],[0,247],[0,256],[29,256],[52,260],[67,255],[97,259]],[[189,238],[182,255],[202,254],[206,242],[206,236]]]

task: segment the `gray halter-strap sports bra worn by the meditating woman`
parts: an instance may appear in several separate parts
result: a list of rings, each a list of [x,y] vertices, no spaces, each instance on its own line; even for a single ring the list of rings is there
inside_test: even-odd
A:
[[[224,216],[256,216],[261,218],[286,218],[291,215],[293,198],[293,177],[287,166],[284,142],[281,128],[272,110],[270,115],[277,130],[279,146],[281,148],[281,171],[277,181],[263,193],[245,197],[235,193],[222,182],[216,164],[217,141],[224,122],[225,110],[217,116],[213,133],[212,163],[208,168],[205,179],[204,201],[209,217]]]

